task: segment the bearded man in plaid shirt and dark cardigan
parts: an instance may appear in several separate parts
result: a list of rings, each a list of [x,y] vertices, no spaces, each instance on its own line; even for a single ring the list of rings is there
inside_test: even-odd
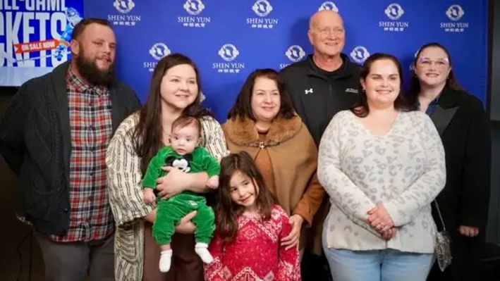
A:
[[[106,146],[140,108],[114,77],[111,25],[75,25],[73,58],[25,82],[0,121],[0,153],[18,176],[18,217],[32,225],[46,280],[114,280],[114,219],[106,192]]]

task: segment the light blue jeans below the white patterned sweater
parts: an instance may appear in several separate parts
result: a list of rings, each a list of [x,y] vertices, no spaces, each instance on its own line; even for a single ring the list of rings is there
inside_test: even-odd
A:
[[[323,232],[327,235],[327,232]],[[434,263],[432,254],[416,254],[394,249],[350,251],[327,249],[324,254],[334,281],[425,281]]]

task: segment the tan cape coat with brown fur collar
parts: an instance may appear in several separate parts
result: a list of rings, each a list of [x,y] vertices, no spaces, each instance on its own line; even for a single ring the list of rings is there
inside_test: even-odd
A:
[[[262,145],[267,149],[279,204],[289,215],[302,216],[310,227],[324,198],[324,189],[316,175],[317,147],[300,117],[289,120],[276,118],[263,143],[255,123],[250,119],[228,120],[222,129],[231,152],[247,151],[255,158]],[[321,237],[315,238],[315,244],[321,243]],[[305,246],[305,239],[303,227],[301,248]],[[317,245],[314,248],[318,249]],[[319,253],[315,251],[315,254]]]

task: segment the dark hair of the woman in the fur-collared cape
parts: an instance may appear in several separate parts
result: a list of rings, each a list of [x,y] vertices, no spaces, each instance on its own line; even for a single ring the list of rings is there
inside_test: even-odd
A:
[[[247,80],[245,80],[245,83],[243,84],[243,87],[241,87],[240,93],[236,98],[236,103],[229,110],[227,116],[228,119],[234,120],[236,118],[250,118],[251,120],[256,121],[252,111],[252,94],[253,87],[255,86],[255,80],[260,77],[267,78],[276,82],[276,86],[278,87],[279,91],[279,97],[281,99],[281,106],[279,108],[278,115],[281,118],[285,119],[290,119],[295,116],[292,101],[290,99],[290,96],[288,95],[288,92],[286,92],[285,90],[285,85],[279,78],[279,74],[274,69],[264,68],[254,70],[252,73],[250,73],[250,75],[248,75]]]

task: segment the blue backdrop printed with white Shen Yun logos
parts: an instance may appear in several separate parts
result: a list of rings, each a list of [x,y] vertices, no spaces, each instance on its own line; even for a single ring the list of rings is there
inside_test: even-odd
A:
[[[222,121],[252,70],[279,70],[310,54],[308,18],[323,8],[342,15],[351,60],[394,54],[408,80],[418,47],[439,42],[451,51],[458,80],[484,103],[487,7],[487,0],[86,0],[84,8],[115,25],[118,76],[142,101],[155,63],[181,52],[199,66],[204,104]]]

